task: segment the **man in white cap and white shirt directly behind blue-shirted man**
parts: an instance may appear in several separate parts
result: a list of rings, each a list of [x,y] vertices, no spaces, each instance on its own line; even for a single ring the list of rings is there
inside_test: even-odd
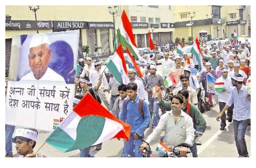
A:
[[[136,79],[136,70],[135,69],[128,69],[128,77],[130,79],[130,82],[134,82],[137,84],[137,95],[143,99],[146,100],[148,103],[148,93],[146,93],[146,90],[144,89],[144,85],[142,81]],[[148,103],[149,104],[149,103]]]

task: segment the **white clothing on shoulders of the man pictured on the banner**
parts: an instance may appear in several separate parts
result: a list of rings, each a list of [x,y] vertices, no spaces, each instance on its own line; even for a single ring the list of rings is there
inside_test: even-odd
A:
[[[29,72],[28,74],[26,74],[24,77],[20,79],[20,81],[22,80],[37,80],[37,79],[34,77],[33,72]],[[38,80],[65,81],[65,79],[61,75],[59,75],[57,72],[53,71],[49,67],[47,67],[47,70],[44,73],[43,77]]]

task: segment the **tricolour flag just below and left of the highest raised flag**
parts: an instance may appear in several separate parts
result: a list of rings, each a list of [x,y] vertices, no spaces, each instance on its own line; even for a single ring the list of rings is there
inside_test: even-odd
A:
[[[111,74],[117,79],[120,84],[127,85],[129,83],[128,71],[125,62],[125,57],[123,56],[122,45],[120,44],[111,60],[107,63],[107,69]]]

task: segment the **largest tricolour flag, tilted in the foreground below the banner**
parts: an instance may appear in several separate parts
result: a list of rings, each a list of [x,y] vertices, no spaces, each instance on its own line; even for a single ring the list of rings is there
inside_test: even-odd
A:
[[[117,119],[90,94],[86,94],[45,142],[61,152],[69,152],[112,138],[128,141],[129,136],[130,125]]]

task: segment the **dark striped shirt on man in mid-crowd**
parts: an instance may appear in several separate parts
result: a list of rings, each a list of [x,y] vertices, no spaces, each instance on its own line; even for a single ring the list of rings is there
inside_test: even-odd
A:
[[[165,85],[164,85],[164,78],[162,78],[161,75],[159,74],[156,74],[154,77],[151,76],[151,75],[147,75],[145,77],[145,84],[144,84],[144,88],[145,90],[146,89],[151,89],[149,92],[148,92],[148,97],[151,98],[152,97],[152,88],[154,86],[159,86],[161,88],[161,90],[164,90],[165,89]]]

